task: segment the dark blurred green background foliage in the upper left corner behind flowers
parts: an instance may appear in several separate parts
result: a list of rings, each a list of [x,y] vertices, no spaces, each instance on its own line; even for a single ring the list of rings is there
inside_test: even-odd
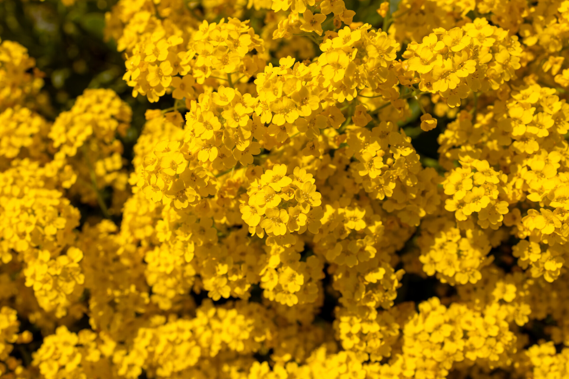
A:
[[[44,73],[43,89],[51,100],[51,109],[44,114],[47,119],[71,109],[86,88],[110,88],[125,99],[133,109],[134,127],[122,138],[130,162],[149,103],[144,97],[132,97],[122,80],[122,54],[113,40],[104,41],[105,12],[114,3],[80,0],[66,6],[59,0],[2,0],[0,38],[26,47]]]

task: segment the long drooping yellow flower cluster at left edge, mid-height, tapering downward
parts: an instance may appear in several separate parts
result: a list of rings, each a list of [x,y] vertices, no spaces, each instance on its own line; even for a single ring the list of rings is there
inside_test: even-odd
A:
[[[48,189],[45,171],[26,159],[0,174],[2,263],[21,265],[39,305],[63,316],[83,292],[83,252],[73,246],[80,214],[63,193]]]

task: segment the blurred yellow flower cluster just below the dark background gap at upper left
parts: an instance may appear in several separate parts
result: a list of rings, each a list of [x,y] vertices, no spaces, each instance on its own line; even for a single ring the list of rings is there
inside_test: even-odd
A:
[[[113,90],[85,90],[71,110],[62,112],[48,137],[57,149],[51,164],[62,170],[64,188],[85,203],[96,203],[97,192],[107,186],[125,191],[124,136],[131,119],[130,107]]]

